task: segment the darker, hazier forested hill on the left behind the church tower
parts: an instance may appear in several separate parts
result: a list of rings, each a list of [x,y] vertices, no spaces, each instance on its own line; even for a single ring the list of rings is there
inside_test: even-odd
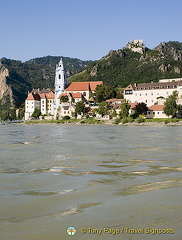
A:
[[[47,56],[27,62],[2,58],[0,60],[0,105],[7,102],[7,99],[16,103],[17,106],[20,105],[32,88],[54,89],[55,68],[60,58],[61,56]],[[62,58],[68,76],[83,70],[91,63],[91,61],[82,61],[77,58]]]

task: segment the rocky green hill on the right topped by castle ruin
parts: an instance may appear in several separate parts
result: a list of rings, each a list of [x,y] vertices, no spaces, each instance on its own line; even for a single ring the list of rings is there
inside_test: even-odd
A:
[[[137,48],[137,46],[133,46]],[[130,83],[151,82],[163,78],[182,77],[182,43],[160,43],[154,49],[145,47],[142,53],[123,48],[110,51],[92,62],[70,81],[100,81],[110,86],[126,87]]]

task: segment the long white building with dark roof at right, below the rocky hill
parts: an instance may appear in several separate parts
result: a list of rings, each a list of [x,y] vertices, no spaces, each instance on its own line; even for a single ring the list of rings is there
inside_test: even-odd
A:
[[[129,103],[144,102],[148,107],[154,104],[163,104],[165,99],[173,93],[178,91],[179,103],[181,102],[182,96],[182,79],[171,81],[166,79],[165,81],[160,80],[157,83],[139,83],[130,84],[124,89],[124,98]]]

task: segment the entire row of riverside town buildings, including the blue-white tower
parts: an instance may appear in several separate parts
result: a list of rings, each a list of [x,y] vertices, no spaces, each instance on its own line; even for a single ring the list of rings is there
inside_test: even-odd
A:
[[[25,101],[25,120],[31,118],[35,109],[40,109],[42,115],[49,119],[63,118],[64,116],[73,117],[77,102],[84,102],[88,109],[88,114],[92,115],[97,108],[93,100],[93,94],[97,85],[103,85],[102,81],[95,82],[72,82],[67,83],[63,61],[60,60],[56,66],[55,90],[33,89]],[[178,104],[182,104],[182,78],[162,79],[159,82],[139,83],[128,85],[123,92],[124,99],[130,104],[130,114],[134,113],[136,104],[144,102],[149,110],[147,117],[165,118],[164,101],[173,93],[178,92]],[[65,99],[66,101],[61,101]],[[111,111],[115,109],[119,114],[123,99],[108,99]],[[105,116],[107,118],[107,116]],[[108,116],[109,117],[109,116]]]

